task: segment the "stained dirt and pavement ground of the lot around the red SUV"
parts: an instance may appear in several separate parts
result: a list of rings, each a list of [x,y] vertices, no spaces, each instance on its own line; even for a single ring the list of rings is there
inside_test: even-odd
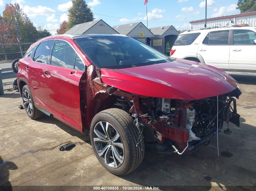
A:
[[[235,77],[242,91],[238,103],[241,127],[219,134],[208,146],[188,155],[161,155],[149,151],[134,172],[117,177],[96,159],[88,135],[82,135],[57,119],[31,120],[18,92],[0,96],[0,185],[23,186],[160,186],[161,190],[205,186],[204,190],[234,190],[232,186],[256,186],[256,78]],[[217,88],[217,87],[216,87]],[[226,129],[224,124],[223,130]],[[70,151],[59,151],[67,142]],[[229,187],[231,186],[231,187]],[[37,187],[33,187],[37,188]],[[66,189],[65,189],[66,188]],[[62,187],[70,190],[79,187]],[[81,189],[83,188],[83,189]],[[81,190],[92,187],[80,187]],[[255,187],[237,187],[253,190]],[[1,190],[1,187],[0,187]],[[48,190],[48,189],[47,189]]]

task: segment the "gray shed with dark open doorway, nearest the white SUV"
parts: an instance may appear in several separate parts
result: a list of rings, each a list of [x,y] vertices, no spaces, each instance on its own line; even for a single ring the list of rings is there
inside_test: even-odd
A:
[[[172,25],[154,27],[149,30],[155,35],[155,38],[152,38],[152,46],[162,53],[168,54],[174,44],[174,41],[179,35],[178,30],[176,30]]]

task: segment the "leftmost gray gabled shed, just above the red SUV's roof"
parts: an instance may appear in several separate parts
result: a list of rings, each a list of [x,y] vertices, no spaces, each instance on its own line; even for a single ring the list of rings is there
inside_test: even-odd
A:
[[[102,20],[76,24],[65,34],[118,34],[112,27]]]

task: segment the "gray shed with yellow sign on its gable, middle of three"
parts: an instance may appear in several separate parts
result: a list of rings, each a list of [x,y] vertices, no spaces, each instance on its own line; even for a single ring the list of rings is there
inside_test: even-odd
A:
[[[148,45],[151,45],[151,37],[155,37],[155,35],[141,22],[122,24],[114,26],[113,29],[115,29],[119,34],[135,38]]]

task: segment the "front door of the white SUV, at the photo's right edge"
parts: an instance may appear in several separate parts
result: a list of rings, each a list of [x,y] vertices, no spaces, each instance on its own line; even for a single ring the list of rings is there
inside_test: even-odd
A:
[[[233,30],[229,57],[229,71],[256,72],[256,32]]]

